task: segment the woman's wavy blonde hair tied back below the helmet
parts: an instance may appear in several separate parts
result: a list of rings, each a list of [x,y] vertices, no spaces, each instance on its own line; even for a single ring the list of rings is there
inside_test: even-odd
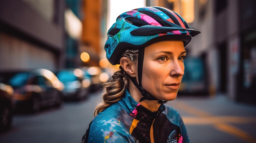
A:
[[[121,57],[127,57],[130,61],[136,63],[138,61],[138,50],[126,50]],[[103,83],[103,101],[99,103],[94,110],[94,117],[102,112],[110,105],[121,100],[125,94],[126,88],[130,84],[129,77],[124,69],[120,66],[120,70],[115,72],[109,82]]]

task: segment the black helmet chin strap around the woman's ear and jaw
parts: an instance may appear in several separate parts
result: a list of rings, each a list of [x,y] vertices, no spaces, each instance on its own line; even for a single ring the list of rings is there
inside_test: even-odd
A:
[[[139,49],[139,55],[138,55],[138,79],[139,79],[139,84],[137,83],[137,80],[135,77],[131,77],[129,74],[128,77],[130,78],[130,80],[132,81],[132,83],[138,88],[139,92],[141,92],[141,95],[143,97],[141,97],[141,99],[139,100],[139,102],[144,101],[144,100],[158,100],[158,103],[166,103],[167,101],[164,100],[159,100],[155,97],[153,97],[152,95],[150,95],[148,93],[148,91],[146,91],[144,88],[142,88],[141,85],[141,79],[142,79],[142,67],[143,67],[143,59],[144,59],[144,48]]]

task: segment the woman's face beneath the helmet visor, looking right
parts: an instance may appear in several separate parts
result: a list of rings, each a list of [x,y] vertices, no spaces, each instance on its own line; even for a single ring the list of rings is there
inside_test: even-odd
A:
[[[182,41],[163,41],[145,48],[142,87],[160,100],[174,100],[184,75]]]

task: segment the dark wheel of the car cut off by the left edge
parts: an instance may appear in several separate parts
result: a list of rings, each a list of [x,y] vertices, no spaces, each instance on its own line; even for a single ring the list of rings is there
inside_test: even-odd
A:
[[[12,123],[12,112],[11,108],[4,106],[0,110],[0,131],[6,131],[11,128]]]

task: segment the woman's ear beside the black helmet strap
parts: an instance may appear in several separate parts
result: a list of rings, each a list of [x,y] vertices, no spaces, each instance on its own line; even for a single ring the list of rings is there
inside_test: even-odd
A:
[[[122,66],[124,71],[126,71],[126,73],[128,73],[131,77],[136,77],[135,64],[131,62],[130,59],[128,59],[127,57],[121,57],[120,65]]]

